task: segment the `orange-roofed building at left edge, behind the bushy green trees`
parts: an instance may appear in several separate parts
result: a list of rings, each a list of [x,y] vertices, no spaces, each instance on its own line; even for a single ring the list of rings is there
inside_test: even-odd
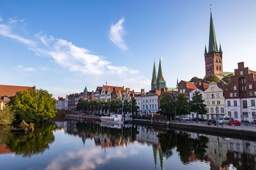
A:
[[[10,102],[10,97],[15,96],[17,92],[28,90],[27,86],[15,86],[15,85],[0,85],[0,107],[3,109],[6,103]]]

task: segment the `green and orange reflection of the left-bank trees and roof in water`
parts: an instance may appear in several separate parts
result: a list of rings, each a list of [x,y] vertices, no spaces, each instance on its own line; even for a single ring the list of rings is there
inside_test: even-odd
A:
[[[49,144],[54,142],[54,124],[36,125],[34,132],[28,134],[12,133],[10,128],[1,128],[1,148],[5,153],[14,152],[22,157],[44,153]]]

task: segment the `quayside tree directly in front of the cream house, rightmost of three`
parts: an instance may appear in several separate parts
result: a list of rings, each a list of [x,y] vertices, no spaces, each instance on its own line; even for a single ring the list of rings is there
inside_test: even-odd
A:
[[[189,105],[190,110],[196,113],[196,118],[198,118],[198,115],[203,115],[206,113],[206,105],[204,104],[204,99],[202,99],[200,92],[195,92]]]

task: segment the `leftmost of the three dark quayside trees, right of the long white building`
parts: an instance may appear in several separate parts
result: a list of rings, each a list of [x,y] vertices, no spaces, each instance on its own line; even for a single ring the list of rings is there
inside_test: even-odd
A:
[[[163,97],[160,100],[160,111],[161,115],[165,115],[168,120],[170,118],[174,118],[175,114],[175,101],[173,100],[172,96],[168,93],[164,93]]]

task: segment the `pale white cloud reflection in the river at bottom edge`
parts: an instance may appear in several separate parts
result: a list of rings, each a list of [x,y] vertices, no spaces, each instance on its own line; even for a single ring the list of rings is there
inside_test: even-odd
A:
[[[97,165],[105,164],[109,159],[125,158],[137,155],[137,150],[115,148],[103,153],[101,148],[88,148],[78,152],[67,152],[65,155],[52,160],[46,169],[95,169]]]

